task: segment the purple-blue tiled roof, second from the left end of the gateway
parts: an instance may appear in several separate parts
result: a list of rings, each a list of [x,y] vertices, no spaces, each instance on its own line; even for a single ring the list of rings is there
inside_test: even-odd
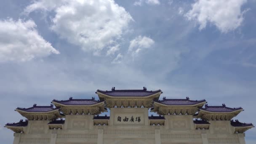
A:
[[[53,108],[53,104],[51,104],[51,106],[37,106],[37,104],[34,104],[33,107],[29,107],[29,108],[18,107],[17,109],[25,112],[50,112],[59,108]]]

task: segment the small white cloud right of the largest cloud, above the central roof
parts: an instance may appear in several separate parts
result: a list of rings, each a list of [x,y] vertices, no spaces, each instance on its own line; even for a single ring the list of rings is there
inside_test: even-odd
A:
[[[132,56],[135,57],[138,55],[139,51],[141,51],[143,48],[149,48],[154,43],[155,43],[155,41],[149,37],[139,36],[130,41],[130,46],[129,46],[128,51],[131,51]]]

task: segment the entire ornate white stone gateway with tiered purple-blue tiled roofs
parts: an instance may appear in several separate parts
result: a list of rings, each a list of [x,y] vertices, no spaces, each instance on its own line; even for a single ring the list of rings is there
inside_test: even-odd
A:
[[[159,100],[162,93],[113,87],[97,90],[99,100],[54,99],[50,106],[18,107],[27,120],[5,127],[14,131],[13,144],[245,144],[245,131],[254,127],[232,120],[241,107]]]

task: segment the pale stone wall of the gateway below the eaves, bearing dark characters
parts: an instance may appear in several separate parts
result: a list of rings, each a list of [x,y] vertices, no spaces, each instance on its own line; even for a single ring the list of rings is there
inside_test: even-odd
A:
[[[25,133],[14,133],[13,144],[245,144],[229,121],[209,121],[209,130],[196,130],[192,115],[166,115],[165,125],[153,126],[147,108],[111,108],[109,125],[93,125],[93,115],[66,115],[59,130],[48,123],[29,120]]]

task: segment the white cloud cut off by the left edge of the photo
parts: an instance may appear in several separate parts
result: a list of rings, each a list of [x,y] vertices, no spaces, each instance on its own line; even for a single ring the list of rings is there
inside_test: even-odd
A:
[[[0,21],[0,62],[29,61],[34,58],[59,54],[51,43],[41,37],[32,20]]]

